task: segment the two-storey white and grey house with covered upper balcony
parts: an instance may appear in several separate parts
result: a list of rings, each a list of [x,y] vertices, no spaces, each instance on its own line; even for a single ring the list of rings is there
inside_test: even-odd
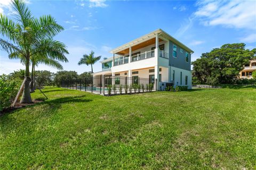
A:
[[[165,31],[158,29],[110,51],[113,57],[101,61],[102,71],[93,77],[105,75],[131,77],[132,82],[147,78],[157,89],[165,83],[191,88],[190,70],[193,50],[180,43]]]

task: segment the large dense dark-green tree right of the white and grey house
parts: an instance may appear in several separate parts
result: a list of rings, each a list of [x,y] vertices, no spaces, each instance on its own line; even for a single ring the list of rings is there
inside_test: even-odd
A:
[[[203,53],[192,62],[193,77],[200,83],[231,83],[238,78],[244,65],[255,58],[256,48],[245,49],[244,43],[225,44]]]

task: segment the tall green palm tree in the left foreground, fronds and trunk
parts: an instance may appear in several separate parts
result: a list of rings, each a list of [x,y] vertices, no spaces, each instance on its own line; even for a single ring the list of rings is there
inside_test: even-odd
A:
[[[63,30],[61,25],[51,15],[41,16],[39,19],[31,15],[23,1],[13,0],[12,7],[16,23],[0,14],[0,45],[10,58],[20,58],[26,65],[25,84],[20,103],[32,103],[30,95],[29,64],[34,55],[48,56],[58,60],[59,56],[68,54],[67,49],[56,49],[60,43],[52,38]]]

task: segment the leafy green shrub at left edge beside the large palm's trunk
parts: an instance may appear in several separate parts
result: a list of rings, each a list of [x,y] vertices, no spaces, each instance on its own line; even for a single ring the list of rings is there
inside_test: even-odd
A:
[[[11,79],[9,75],[0,75],[0,111],[10,107],[12,101],[17,95],[22,80]]]

